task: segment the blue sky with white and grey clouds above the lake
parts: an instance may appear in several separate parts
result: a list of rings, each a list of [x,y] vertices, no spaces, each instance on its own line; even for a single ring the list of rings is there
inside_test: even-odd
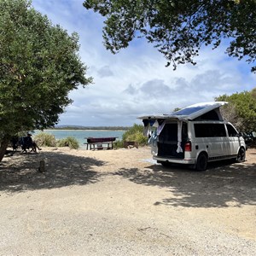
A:
[[[70,92],[73,103],[60,115],[58,125],[132,126],[138,116],[172,113],[198,102],[213,102],[256,87],[256,75],[245,61],[224,54],[226,47],[201,49],[196,66],[173,71],[166,59],[145,39],[136,39],[113,55],[102,38],[104,18],[83,7],[84,0],[32,0],[70,34],[79,34],[79,55],[94,83]]]

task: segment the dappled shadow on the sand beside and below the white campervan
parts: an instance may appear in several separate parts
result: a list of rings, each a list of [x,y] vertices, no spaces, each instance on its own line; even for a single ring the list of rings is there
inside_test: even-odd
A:
[[[196,172],[182,166],[165,168],[147,166],[115,172],[131,182],[166,188],[170,196],[156,201],[182,207],[241,207],[256,205],[256,165],[216,162],[206,172]]]

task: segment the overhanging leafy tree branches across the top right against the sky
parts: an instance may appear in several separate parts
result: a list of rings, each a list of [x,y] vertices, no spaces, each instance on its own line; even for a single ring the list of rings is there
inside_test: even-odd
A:
[[[145,37],[176,67],[228,38],[228,55],[256,59],[255,0],[85,0],[84,7],[106,17],[103,38],[113,53]]]

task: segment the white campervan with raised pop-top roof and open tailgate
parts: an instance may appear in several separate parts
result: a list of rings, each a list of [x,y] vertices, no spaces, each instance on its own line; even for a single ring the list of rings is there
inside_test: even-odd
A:
[[[204,102],[171,114],[139,117],[150,136],[154,160],[163,166],[187,164],[198,171],[206,170],[210,161],[244,161],[243,137],[219,112],[226,103]]]

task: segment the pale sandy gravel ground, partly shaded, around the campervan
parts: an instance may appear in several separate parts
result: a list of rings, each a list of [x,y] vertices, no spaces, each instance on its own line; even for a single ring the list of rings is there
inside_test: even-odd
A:
[[[0,225],[0,255],[256,255],[256,150],[207,172],[149,148],[17,152],[0,163]]]

